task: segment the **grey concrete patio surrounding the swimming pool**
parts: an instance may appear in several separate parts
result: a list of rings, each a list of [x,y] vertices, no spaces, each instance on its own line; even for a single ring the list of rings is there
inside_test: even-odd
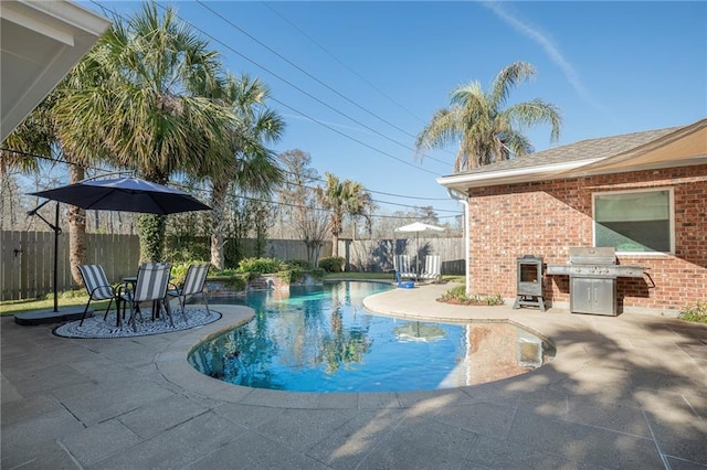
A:
[[[450,286],[394,289],[370,310],[441,321],[510,319],[553,361],[489,384],[416,393],[240,387],[187,363],[246,321],[72,340],[1,319],[2,469],[475,469],[707,467],[707,327],[674,318],[435,302]]]

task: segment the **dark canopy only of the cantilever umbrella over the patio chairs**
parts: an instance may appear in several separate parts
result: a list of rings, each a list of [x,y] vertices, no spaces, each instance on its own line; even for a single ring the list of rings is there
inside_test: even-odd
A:
[[[66,186],[31,193],[86,210],[175,214],[210,211],[192,195],[138,178],[84,180]]]

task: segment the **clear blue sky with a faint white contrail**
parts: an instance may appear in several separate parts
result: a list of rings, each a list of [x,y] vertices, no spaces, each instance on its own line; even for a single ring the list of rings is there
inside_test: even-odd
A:
[[[140,7],[82,4],[120,14]],[[449,105],[454,87],[471,81],[487,87],[516,61],[531,63],[537,77],[517,87],[509,104],[557,105],[563,117],[557,145],[707,116],[704,1],[171,4],[230,72],[271,87],[271,106],[286,121],[274,149],[304,150],[319,174],[361,182],[379,213],[405,210],[384,202],[432,205],[441,216],[461,210],[435,182],[451,173],[455,149],[420,162],[414,137]],[[526,133],[538,151],[552,146],[548,127]]]

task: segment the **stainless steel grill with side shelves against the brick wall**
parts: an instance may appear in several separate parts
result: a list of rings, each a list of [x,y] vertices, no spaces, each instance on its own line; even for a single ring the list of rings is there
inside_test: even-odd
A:
[[[643,267],[616,264],[611,247],[573,247],[566,265],[548,265],[548,275],[570,277],[570,311],[615,316],[616,278],[643,277]]]

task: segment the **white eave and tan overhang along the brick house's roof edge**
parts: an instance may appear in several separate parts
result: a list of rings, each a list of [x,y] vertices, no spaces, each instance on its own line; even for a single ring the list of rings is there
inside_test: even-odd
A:
[[[466,194],[473,188],[530,183],[606,173],[655,170],[707,163],[707,119],[610,157],[518,169],[454,174],[439,178],[441,185]]]

